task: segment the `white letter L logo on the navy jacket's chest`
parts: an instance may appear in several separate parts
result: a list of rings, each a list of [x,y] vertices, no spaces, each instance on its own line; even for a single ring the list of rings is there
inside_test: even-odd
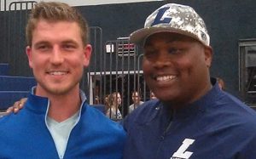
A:
[[[173,153],[170,159],[189,159],[193,152],[186,151],[189,145],[194,143],[195,139],[184,139],[183,145],[181,145],[176,152]]]

